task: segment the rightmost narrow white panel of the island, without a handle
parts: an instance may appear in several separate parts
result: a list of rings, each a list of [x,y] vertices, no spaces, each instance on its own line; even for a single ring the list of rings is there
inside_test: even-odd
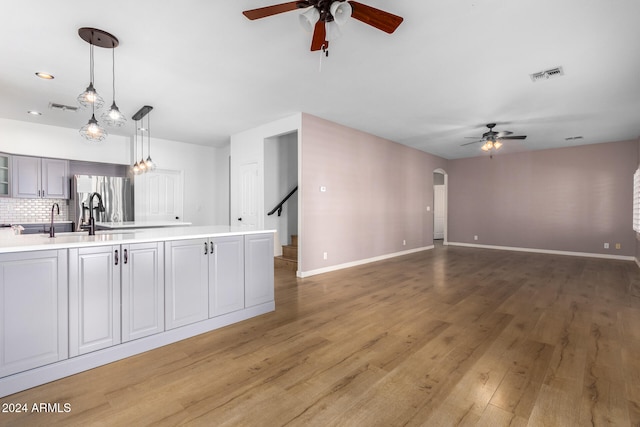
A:
[[[273,234],[244,236],[245,306],[273,301]]]

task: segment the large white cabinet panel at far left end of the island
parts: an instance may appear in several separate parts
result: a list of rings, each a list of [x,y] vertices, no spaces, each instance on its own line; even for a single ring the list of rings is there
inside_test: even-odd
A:
[[[67,251],[0,254],[0,377],[68,357]]]

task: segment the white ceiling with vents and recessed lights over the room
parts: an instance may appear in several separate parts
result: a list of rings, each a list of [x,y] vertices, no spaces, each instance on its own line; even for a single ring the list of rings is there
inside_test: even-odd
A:
[[[87,111],[48,104],[76,105],[89,82],[77,30],[95,27],[119,38],[116,101],[129,118],[153,106],[152,137],[220,146],[299,111],[449,159],[482,155],[460,145],[488,122],[528,135],[502,152],[640,137],[640,1],[360,1],[404,22],[388,35],[350,19],[328,58],[309,51],[298,11],[242,15],[278,0],[4,2],[0,117],[84,125]],[[557,66],[564,76],[529,77]],[[109,49],[95,49],[95,74],[108,107]]]

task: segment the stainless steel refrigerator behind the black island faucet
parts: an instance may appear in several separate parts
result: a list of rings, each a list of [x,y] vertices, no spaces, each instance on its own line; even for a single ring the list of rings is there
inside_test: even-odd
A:
[[[96,222],[133,221],[133,186],[129,178],[115,176],[75,175],[71,181],[71,213],[74,230],[80,231],[89,221],[89,197],[97,192],[102,197],[104,210],[98,209],[98,198],[93,199],[93,217]]]

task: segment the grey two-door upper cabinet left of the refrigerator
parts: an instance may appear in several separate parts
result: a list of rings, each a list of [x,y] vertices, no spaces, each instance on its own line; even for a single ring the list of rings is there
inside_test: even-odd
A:
[[[12,197],[68,199],[69,162],[58,159],[12,156]]]

